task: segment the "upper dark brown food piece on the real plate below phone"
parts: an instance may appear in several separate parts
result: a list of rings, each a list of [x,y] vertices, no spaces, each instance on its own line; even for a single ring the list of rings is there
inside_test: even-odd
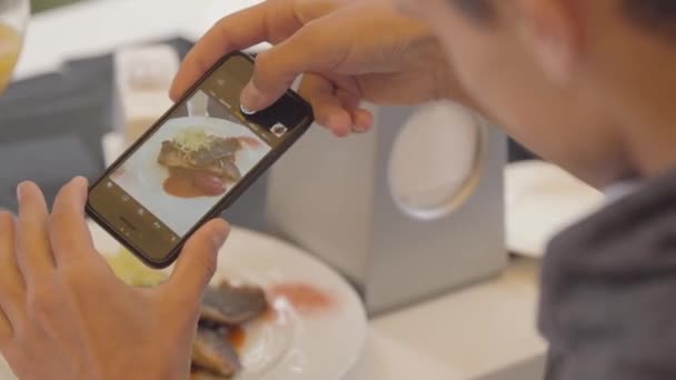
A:
[[[222,282],[205,293],[200,320],[217,326],[237,326],[258,318],[267,308],[262,289]]]

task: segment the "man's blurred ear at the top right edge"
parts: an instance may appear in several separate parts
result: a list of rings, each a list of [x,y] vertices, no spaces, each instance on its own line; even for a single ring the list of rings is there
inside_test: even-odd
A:
[[[560,86],[573,77],[583,52],[576,0],[514,0],[518,37],[543,71]],[[590,0],[594,1],[594,0]]]

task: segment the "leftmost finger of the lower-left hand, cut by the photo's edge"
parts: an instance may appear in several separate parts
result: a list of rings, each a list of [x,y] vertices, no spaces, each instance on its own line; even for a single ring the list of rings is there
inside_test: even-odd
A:
[[[26,286],[14,256],[16,220],[9,212],[0,211],[0,324],[18,321],[26,314]],[[1,317],[6,317],[4,321]]]

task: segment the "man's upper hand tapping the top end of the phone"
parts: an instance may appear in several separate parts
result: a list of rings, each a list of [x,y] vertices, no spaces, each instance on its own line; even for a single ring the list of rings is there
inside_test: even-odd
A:
[[[241,101],[260,110],[306,73],[300,93],[338,136],[365,131],[361,101],[414,104],[463,98],[431,32],[385,1],[268,0],[226,17],[197,43],[178,73],[176,100],[222,56],[269,41]]]

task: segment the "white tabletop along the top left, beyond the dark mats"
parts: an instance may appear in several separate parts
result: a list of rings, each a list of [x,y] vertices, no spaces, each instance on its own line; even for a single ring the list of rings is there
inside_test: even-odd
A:
[[[108,53],[125,44],[202,36],[220,14],[257,0],[90,0],[31,20],[16,79],[51,71],[66,58]]]

